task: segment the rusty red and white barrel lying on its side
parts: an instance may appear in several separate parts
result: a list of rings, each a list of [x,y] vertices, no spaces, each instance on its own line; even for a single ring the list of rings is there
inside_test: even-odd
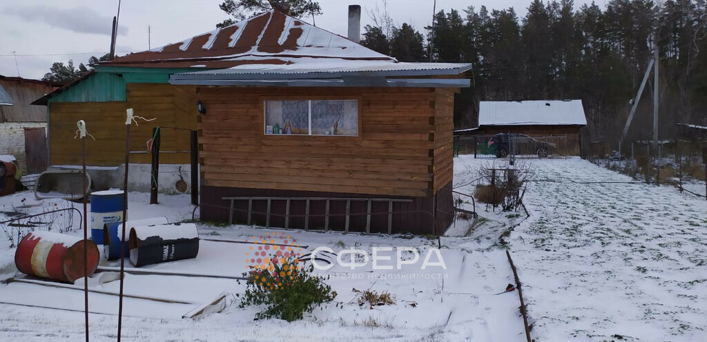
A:
[[[93,241],[57,232],[30,232],[26,235],[15,251],[15,265],[30,276],[74,283],[84,274],[84,245],[88,255],[86,272],[90,276],[98,268],[98,246]]]

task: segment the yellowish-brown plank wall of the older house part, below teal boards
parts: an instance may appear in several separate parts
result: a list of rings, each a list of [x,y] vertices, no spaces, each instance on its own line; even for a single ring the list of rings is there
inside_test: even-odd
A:
[[[115,166],[125,160],[125,110],[133,108],[139,120],[130,129],[131,151],[147,151],[146,141],[156,126],[176,126],[197,129],[196,88],[155,83],[129,83],[124,102],[52,102],[49,114],[49,163],[51,165],[81,164],[81,141],[76,136],[76,122],[86,121],[88,165]],[[161,130],[160,163],[189,163],[189,133],[173,129]],[[134,154],[131,163],[150,163],[148,154]]]

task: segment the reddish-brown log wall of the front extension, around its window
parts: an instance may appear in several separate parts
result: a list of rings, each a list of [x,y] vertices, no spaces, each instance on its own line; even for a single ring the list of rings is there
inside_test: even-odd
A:
[[[453,90],[203,87],[206,187],[433,196],[451,181]],[[356,99],[358,136],[263,134],[265,99]],[[451,98],[451,100],[450,100]]]

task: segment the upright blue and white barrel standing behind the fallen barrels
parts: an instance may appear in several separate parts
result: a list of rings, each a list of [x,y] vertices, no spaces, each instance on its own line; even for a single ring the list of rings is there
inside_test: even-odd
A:
[[[103,244],[103,226],[106,223],[122,223],[122,221],[122,190],[96,191],[90,194],[90,240],[96,244]]]

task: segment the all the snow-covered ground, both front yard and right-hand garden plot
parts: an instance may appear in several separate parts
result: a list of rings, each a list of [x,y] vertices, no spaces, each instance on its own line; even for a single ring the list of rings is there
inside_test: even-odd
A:
[[[491,160],[493,161],[493,160]],[[489,160],[455,158],[456,190],[472,194],[477,168]],[[479,224],[460,218],[441,238],[446,270],[352,271],[334,266],[318,271],[337,291],[334,302],[299,322],[253,321],[257,308],[230,305],[220,314],[198,319],[181,316],[195,305],[127,299],[125,341],[525,341],[518,293],[503,293],[513,283],[505,250],[510,249],[523,283],[532,337],[544,341],[703,341],[707,336],[707,201],[680,194],[674,187],[631,184],[629,177],[585,160],[532,160],[532,182],[525,212],[486,212],[477,204]],[[609,182],[609,183],[598,183]],[[39,204],[29,192],[0,198],[0,211]],[[129,218],[192,218],[189,196],[131,193]],[[462,196],[464,208],[471,199]],[[25,209],[66,206],[44,201]],[[74,204],[81,208],[80,204]],[[197,211],[198,216],[198,211]],[[0,214],[0,221],[4,216]],[[78,216],[71,225],[78,227]],[[57,218],[66,225],[66,218]],[[63,223],[59,224],[59,223]],[[498,237],[514,227],[504,237]],[[264,232],[284,232],[298,244],[343,249],[414,247],[421,254],[437,246],[423,237],[344,235],[339,232],[265,230],[242,225],[199,225],[202,238],[245,240]],[[71,234],[81,234],[74,230]],[[14,249],[0,244],[0,278],[15,276]],[[247,244],[201,242],[197,259],[146,266],[146,269],[220,273],[246,270]],[[394,254],[393,254],[394,255]],[[394,255],[395,257],[395,255]],[[435,258],[433,258],[435,259]],[[112,262],[110,266],[117,263]],[[440,278],[441,274],[441,278]],[[410,277],[415,277],[410,279]],[[89,280],[91,288],[117,290],[117,283]],[[203,303],[221,291],[242,293],[233,280],[182,276],[136,276],[125,280],[126,293]],[[76,285],[83,285],[77,281]],[[358,290],[388,291],[396,305],[358,307]],[[77,290],[0,284],[0,302],[83,308]],[[91,294],[93,341],[113,341],[117,298]],[[83,313],[0,304],[0,341],[75,341],[83,338]]]

